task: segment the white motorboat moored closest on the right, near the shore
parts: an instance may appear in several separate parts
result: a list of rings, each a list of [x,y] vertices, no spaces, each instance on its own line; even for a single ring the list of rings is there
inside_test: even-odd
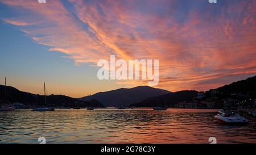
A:
[[[230,125],[246,125],[248,120],[235,112],[229,110],[220,110],[218,114],[214,116],[219,124],[230,124]]]

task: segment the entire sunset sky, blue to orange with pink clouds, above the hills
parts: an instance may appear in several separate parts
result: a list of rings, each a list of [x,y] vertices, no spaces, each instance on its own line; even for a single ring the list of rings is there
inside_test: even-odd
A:
[[[256,1],[1,0],[0,84],[84,97],[147,85],[97,78],[110,55],[159,60],[159,87],[205,91],[256,75]]]

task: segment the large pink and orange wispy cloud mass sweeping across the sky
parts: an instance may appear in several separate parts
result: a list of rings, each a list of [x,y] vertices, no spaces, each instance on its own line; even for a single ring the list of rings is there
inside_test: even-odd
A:
[[[6,23],[76,64],[111,54],[159,59],[160,85],[207,90],[256,72],[256,2],[8,1],[21,12]],[[28,23],[37,23],[28,24]],[[143,81],[141,81],[143,83]],[[122,84],[142,84],[123,81]]]

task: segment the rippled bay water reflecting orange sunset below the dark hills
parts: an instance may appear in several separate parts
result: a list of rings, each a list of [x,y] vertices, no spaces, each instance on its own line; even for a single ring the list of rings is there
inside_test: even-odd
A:
[[[0,143],[256,143],[256,120],[218,125],[218,110],[97,109],[0,112]]]

